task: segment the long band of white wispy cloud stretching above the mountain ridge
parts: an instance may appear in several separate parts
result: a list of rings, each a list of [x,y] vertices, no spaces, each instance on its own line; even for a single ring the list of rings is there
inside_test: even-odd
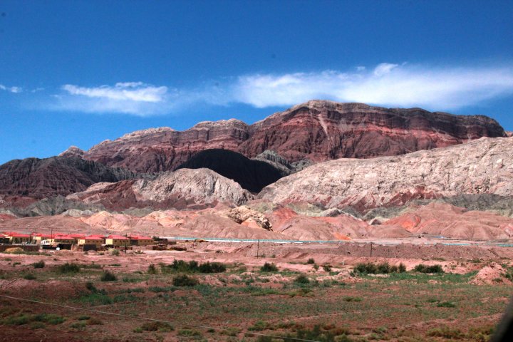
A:
[[[214,86],[215,84],[215,86]],[[159,115],[192,105],[244,103],[257,108],[311,99],[393,107],[454,110],[513,94],[511,66],[432,68],[409,63],[356,66],[351,71],[249,74],[194,89],[120,82],[114,86],[66,84],[51,109],[86,113]]]

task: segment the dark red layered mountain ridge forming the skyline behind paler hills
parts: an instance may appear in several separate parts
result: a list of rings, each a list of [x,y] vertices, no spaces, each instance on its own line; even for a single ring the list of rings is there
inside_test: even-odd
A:
[[[162,172],[175,170],[202,150],[232,150],[249,158],[269,150],[286,162],[299,163],[296,168],[301,169],[311,162],[402,155],[505,135],[495,120],[482,115],[311,100],[253,125],[230,119],[198,123],[182,132],[141,130],[105,140],[83,157],[134,172]],[[264,160],[272,159],[266,157]]]

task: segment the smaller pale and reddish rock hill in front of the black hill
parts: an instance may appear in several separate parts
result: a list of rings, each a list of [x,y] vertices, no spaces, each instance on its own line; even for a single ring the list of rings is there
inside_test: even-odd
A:
[[[202,209],[214,207],[218,202],[240,205],[252,199],[252,195],[237,182],[212,170],[180,169],[166,172],[155,180],[98,183],[67,198],[103,204],[113,210],[130,207]]]

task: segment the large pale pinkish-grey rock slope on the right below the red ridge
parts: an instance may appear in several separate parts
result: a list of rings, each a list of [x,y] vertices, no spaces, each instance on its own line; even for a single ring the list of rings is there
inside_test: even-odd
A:
[[[367,160],[322,162],[264,188],[261,199],[326,208],[400,206],[412,199],[461,194],[513,195],[513,138]]]

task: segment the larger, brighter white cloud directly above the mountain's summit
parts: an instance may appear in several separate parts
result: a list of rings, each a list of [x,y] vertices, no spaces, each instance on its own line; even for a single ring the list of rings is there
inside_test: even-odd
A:
[[[258,108],[326,99],[445,110],[511,94],[512,67],[430,68],[381,63],[373,71],[242,76],[233,86],[231,100]]]

